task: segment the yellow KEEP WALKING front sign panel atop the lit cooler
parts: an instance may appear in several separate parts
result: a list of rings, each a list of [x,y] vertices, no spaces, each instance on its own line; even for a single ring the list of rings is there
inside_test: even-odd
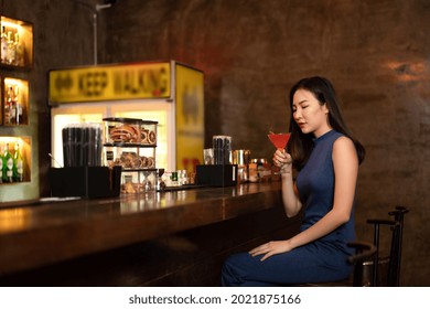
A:
[[[170,74],[169,62],[53,70],[49,73],[50,104],[168,98]]]

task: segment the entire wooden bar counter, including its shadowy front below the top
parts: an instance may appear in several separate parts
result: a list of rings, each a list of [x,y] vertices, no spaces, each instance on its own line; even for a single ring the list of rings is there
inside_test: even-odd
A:
[[[0,285],[217,286],[229,254],[299,223],[280,182],[1,206]]]

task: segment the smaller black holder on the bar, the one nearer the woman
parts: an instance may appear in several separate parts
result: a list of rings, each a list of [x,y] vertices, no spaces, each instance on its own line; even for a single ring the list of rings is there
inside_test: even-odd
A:
[[[237,164],[196,166],[200,185],[230,187],[237,184]]]

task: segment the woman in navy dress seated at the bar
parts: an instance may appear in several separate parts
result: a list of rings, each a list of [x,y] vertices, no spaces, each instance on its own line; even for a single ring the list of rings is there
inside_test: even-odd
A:
[[[350,276],[346,246],[354,241],[354,200],[363,146],[346,127],[332,84],[299,81],[290,92],[291,139],[277,150],[282,202],[288,217],[303,207],[301,232],[230,256],[223,286],[281,286],[342,280]],[[292,168],[299,172],[293,181]]]

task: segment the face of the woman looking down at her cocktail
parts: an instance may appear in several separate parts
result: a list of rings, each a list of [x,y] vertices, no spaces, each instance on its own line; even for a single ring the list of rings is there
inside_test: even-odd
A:
[[[326,104],[320,105],[314,95],[305,89],[298,89],[294,93],[292,117],[303,134],[320,137],[331,129]]]

